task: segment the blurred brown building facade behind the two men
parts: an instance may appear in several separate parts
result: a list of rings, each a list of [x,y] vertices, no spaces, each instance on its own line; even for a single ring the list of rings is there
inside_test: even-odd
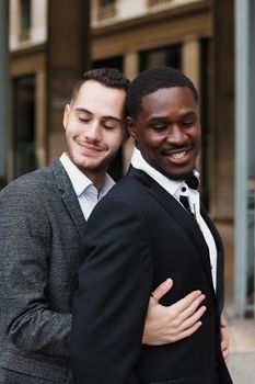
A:
[[[200,93],[201,196],[227,246],[227,298],[234,314],[255,316],[254,0],[2,0],[0,7],[1,187],[63,151],[63,106],[84,70],[115,67],[132,79],[154,66],[179,68]],[[117,155],[116,180],[131,150],[130,140]]]

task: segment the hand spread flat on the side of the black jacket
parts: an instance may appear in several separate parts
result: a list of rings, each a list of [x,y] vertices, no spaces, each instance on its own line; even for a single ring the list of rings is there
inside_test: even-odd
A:
[[[144,345],[162,346],[175,342],[189,337],[201,326],[199,319],[206,312],[206,306],[199,305],[206,296],[200,291],[194,291],[167,307],[159,304],[160,298],[172,286],[173,280],[167,279],[152,292],[142,336]]]

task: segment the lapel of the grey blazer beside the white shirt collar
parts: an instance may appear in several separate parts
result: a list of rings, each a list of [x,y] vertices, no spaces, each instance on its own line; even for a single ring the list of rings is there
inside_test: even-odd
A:
[[[61,193],[62,202],[66,205],[66,208],[69,212],[79,231],[79,235],[82,236],[85,228],[85,219],[81,211],[76,192],[73,190],[72,183],[59,159],[54,161],[51,168],[57,180],[59,192]]]

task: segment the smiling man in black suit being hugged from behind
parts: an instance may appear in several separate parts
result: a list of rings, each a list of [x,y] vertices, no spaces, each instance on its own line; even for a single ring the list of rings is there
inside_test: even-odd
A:
[[[154,68],[131,82],[126,105],[136,149],[128,174],[88,223],[71,335],[74,381],[230,384],[220,348],[223,247],[196,190],[197,91],[178,70]],[[141,346],[150,294],[169,275],[175,284],[162,303],[200,290],[202,325],[178,342]]]

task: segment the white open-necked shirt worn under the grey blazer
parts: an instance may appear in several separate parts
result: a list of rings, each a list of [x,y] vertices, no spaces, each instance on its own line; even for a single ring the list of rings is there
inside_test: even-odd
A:
[[[96,203],[111,190],[115,182],[106,173],[104,185],[98,192],[93,182],[82,173],[66,153],[61,155],[60,161],[71,180],[81,211],[88,221]]]

